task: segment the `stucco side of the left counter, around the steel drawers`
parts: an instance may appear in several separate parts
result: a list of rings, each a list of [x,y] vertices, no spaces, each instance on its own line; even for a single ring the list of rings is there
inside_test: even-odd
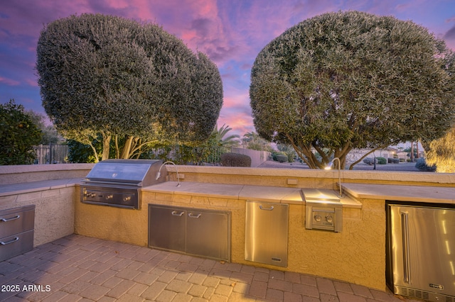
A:
[[[0,196],[0,210],[34,204],[33,246],[74,233],[75,186]]]

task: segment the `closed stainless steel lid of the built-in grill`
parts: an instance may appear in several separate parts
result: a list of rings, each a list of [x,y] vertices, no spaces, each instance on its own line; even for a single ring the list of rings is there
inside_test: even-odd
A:
[[[121,183],[136,186],[156,184],[162,160],[103,160],[87,174],[85,183]]]

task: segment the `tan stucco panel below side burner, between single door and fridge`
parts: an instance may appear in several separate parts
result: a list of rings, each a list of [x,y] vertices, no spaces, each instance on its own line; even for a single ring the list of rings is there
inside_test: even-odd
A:
[[[384,201],[343,208],[341,233],[306,230],[304,211],[289,208],[289,270],[385,290]]]

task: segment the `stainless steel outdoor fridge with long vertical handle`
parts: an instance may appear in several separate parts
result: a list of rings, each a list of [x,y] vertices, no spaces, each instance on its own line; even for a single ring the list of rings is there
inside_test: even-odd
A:
[[[395,293],[455,298],[455,210],[390,204],[387,210]]]

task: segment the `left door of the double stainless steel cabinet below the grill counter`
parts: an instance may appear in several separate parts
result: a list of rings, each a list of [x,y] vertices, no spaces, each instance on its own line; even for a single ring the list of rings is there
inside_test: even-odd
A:
[[[149,206],[149,247],[185,252],[186,211]]]

